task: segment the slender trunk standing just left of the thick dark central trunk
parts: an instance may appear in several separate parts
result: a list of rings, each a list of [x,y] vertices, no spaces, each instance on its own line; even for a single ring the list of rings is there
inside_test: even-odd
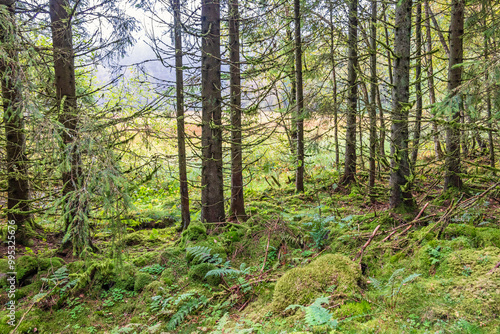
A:
[[[191,222],[189,214],[189,189],[187,180],[186,140],[184,132],[184,71],[182,69],[182,23],[180,0],[172,0],[175,33],[175,89],[177,110],[177,150],[179,158],[179,181],[181,193],[182,229]]]

